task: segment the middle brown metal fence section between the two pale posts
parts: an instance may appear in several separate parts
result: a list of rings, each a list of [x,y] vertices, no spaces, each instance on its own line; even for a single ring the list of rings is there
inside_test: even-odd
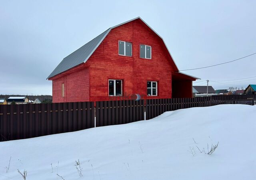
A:
[[[96,127],[144,120],[144,100],[96,102]]]

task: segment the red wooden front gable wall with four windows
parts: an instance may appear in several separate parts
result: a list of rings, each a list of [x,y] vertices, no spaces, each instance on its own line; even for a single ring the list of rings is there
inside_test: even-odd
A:
[[[118,55],[118,40],[132,42],[132,57]],[[140,44],[152,46],[151,60],[140,58]],[[90,66],[90,100],[113,98],[108,96],[108,79],[123,80],[124,96],[140,94],[143,98],[171,98],[170,72],[174,68],[166,54],[162,40],[140,20],[112,29],[86,62]],[[146,96],[147,80],[158,81],[158,96]]]

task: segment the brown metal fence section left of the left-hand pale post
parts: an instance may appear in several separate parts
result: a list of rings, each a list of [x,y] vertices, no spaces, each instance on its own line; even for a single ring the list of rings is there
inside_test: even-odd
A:
[[[93,127],[94,102],[0,105],[0,141]]]

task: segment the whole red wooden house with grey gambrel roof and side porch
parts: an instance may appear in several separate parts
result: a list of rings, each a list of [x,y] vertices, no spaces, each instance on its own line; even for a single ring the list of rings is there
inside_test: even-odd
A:
[[[140,17],[109,28],[60,62],[48,76],[53,102],[192,97],[164,40]]]

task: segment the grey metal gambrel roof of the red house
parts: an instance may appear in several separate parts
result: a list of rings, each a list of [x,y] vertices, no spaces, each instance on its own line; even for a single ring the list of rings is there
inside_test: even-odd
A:
[[[148,24],[144,20],[142,20],[142,18],[137,17],[137,18],[128,20],[126,22],[123,22],[121,24],[118,24],[116,26],[109,28],[108,30],[104,31],[102,34],[100,34],[99,36],[97,36],[96,38],[94,38],[93,40],[86,43],[84,46],[82,46],[81,48],[72,52],[70,55],[68,55],[66,58],[64,58],[60,62],[60,64],[58,64],[58,66],[53,70],[53,72],[48,76],[47,79],[52,78],[53,76],[56,76],[57,74],[60,74],[60,73],[66,71],[66,70],[69,70],[75,66],[78,66],[79,64],[85,63],[90,58],[92,53],[98,48],[98,46],[101,44],[101,42],[106,38],[106,36],[110,32],[110,30],[112,30],[113,28],[116,28],[118,26],[121,26],[123,24],[126,24],[128,22],[131,22],[133,20],[136,20],[136,19],[140,19],[142,22],[144,22],[144,24],[146,24],[148,26]],[[155,32],[150,26],[148,26],[148,27],[154,33],[157,34],[157,32]],[[157,35],[159,36],[159,34],[157,34]],[[159,37],[163,40],[163,38],[161,36],[159,36]],[[164,42],[164,40],[163,40],[163,42]],[[164,45],[166,46],[165,42],[164,42]],[[167,48],[167,46],[166,46],[166,48]],[[168,50],[168,48],[167,48],[167,50]],[[170,54],[170,56],[172,58],[172,55],[169,50],[168,50],[168,53]],[[173,60],[173,58],[172,58],[172,60]],[[173,60],[173,62],[174,62],[174,60]],[[176,68],[178,69],[175,62],[174,62],[174,64],[175,64]]]

